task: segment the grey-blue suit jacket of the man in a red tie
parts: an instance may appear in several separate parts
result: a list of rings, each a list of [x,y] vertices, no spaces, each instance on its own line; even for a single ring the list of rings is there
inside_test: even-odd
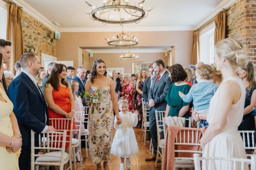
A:
[[[169,86],[171,85],[171,79],[168,77],[168,72],[163,74],[163,77],[157,82],[157,77],[153,79],[153,83],[149,90],[148,101],[150,99],[154,100],[154,109],[157,111],[165,111],[167,102],[165,101],[166,94],[168,92]],[[149,108],[150,110],[151,108]]]

